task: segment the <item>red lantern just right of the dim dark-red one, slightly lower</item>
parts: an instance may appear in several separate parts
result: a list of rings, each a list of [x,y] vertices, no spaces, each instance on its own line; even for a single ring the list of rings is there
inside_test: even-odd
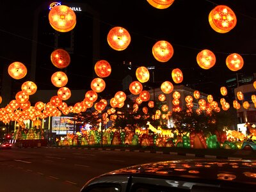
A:
[[[108,77],[111,74],[111,65],[106,60],[100,60],[95,64],[94,70],[98,77]]]

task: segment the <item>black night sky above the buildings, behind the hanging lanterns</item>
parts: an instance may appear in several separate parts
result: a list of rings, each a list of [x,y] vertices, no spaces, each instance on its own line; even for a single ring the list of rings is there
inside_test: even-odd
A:
[[[77,19],[80,18],[77,20],[79,30],[77,29],[75,32],[83,33],[84,41],[88,41],[88,44],[86,42],[79,44],[79,39],[74,42],[81,49],[76,48],[74,53],[70,54],[71,63],[66,69],[69,78],[67,86],[71,89],[90,88],[90,81],[93,79],[93,65],[98,60],[107,60],[112,67],[111,75],[104,79],[106,81],[106,90],[104,90],[106,95],[121,90],[122,78],[127,75],[132,76],[132,80],[136,81],[135,70],[140,66],[156,67],[154,70],[154,84],[156,86],[163,81],[171,81],[175,84],[171,77],[172,69],[180,68],[184,75],[181,84],[207,94],[216,95],[216,97],[221,96],[220,87],[225,86],[227,79],[236,77],[237,74],[252,75],[255,72],[255,0],[175,0],[172,6],[164,10],[154,8],[146,0],[66,2],[72,2],[74,5],[88,3],[100,15],[100,54],[95,58],[91,56],[92,42],[90,39],[92,34],[90,31],[92,29],[90,26],[92,24],[86,23],[90,22],[92,15],[77,17]],[[3,76],[7,74],[4,67],[13,61],[20,61],[28,67],[31,65],[33,15],[35,9],[42,3],[50,4],[52,1],[18,1],[15,3],[1,1],[0,5],[3,11],[0,13],[0,61]],[[211,10],[222,3],[229,6],[237,16],[236,27],[224,34],[214,31],[208,21]],[[65,4],[65,1],[62,1],[61,4]],[[131,44],[124,51],[115,51],[108,45],[106,37],[108,31],[114,26],[122,26],[131,35]],[[152,46],[158,40],[166,40],[173,45],[173,57],[166,63],[157,61],[152,55]],[[44,39],[36,43],[42,45],[45,52],[51,54],[54,51],[53,45],[48,44]],[[209,70],[200,68],[196,63],[196,55],[203,49],[211,50],[216,56],[216,64]],[[83,51],[79,52],[79,50]],[[230,71],[225,63],[228,54],[234,52],[241,54],[244,59],[244,67],[237,72]],[[54,89],[49,77],[58,69],[51,64],[49,55],[41,55],[41,57],[49,58],[49,62],[36,64],[38,68],[44,68],[43,73],[37,72],[38,90]],[[125,63],[132,63],[132,70],[124,65],[124,61]],[[13,92],[19,90],[20,84],[28,80],[29,75],[24,79],[12,80]],[[152,85],[152,79],[150,81],[149,83]],[[113,95],[111,96],[113,97]]]

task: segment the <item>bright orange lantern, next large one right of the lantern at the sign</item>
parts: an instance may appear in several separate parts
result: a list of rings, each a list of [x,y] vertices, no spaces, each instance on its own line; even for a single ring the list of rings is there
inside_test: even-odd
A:
[[[123,51],[131,42],[131,36],[125,28],[115,27],[108,33],[108,44],[116,51]]]

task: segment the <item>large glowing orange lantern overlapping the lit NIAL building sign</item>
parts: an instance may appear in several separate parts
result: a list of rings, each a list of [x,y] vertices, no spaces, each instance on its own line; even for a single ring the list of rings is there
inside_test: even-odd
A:
[[[56,31],[71,31],[76,26],[76,13],[65,5],[54,6],[49,12],[49,22]]]

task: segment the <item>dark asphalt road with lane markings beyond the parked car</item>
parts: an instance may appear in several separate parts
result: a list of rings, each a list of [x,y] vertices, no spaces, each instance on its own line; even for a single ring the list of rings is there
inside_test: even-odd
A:
[[[188,158],[170,154],[81,148],[0,150],[0,191],[77,192],[87,180],[118,168]]]

